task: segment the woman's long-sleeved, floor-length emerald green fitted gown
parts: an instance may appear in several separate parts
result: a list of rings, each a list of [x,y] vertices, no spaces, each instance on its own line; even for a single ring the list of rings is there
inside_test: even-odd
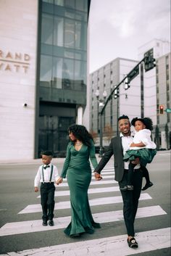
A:
[[[89,157],[93,168],[96,168],[98,163],[93,141],[89,147],[83,144],[79,151],[75,149],[72,142],[69,142],[61,173],[62,178],[67,176],[70,188],[71,222],[64,229],[64,233],[68,236],[82,233],[93,234],[93,228],[100,228],[99,223],[93,221],[88,202],[88,187],[91,183]]]

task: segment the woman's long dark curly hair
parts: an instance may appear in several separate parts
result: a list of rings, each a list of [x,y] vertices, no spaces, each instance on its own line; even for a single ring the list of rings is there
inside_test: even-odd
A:
[[[91,146],[91,140],[93,141],[93,137],[91,133],[88,133],[87,129],[83,125],[70,125],[67,129],[68,133],[73,133],[73,135],[79,140],[82,141],[86,146]]]

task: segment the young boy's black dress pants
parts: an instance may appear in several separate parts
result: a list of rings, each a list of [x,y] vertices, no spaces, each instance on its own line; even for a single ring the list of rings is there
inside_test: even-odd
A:
[[[45,221],[52,220],[54,218],[54,191],[54,182],[41,183],[42,219]]]

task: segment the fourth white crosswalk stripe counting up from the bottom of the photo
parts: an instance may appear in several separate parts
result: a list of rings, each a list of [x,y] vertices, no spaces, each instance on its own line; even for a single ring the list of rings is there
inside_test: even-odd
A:
[[[88,194],[96,194],[96,193],[107,193],[107,192],[114,192],[114,191],[120,191],[119,186],[107,186],[105,188],[96,188],[96,189],[88,189]],[[70,196],[69,190],[63,190],[63,191],[55,191],[54,197],[62,197],[62,196]],[[40,198],[38,196],[37,198]]]

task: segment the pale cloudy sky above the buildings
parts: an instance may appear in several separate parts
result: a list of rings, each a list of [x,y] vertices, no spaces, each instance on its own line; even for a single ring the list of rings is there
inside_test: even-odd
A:
[[[91,0],[89,72],[117,57],[138,59],[154,38],[170,41],[170,0]]]

